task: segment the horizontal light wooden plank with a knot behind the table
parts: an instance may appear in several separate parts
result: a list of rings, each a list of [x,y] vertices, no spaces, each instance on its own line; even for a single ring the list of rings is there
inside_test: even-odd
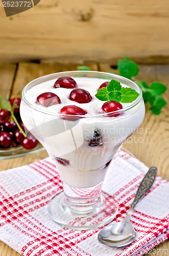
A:
[[[168,0],[41,0],[10,17],[0,1],[0,24],[0,61],[169,63]]]

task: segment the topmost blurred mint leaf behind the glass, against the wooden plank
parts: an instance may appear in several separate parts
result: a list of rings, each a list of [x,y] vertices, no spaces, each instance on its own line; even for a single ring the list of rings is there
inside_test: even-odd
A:
[[[125,57],[125,59],[118,60],[117,69],[121,76],[124,76],[129,79],[138,74],[137,64],[128,57]]]

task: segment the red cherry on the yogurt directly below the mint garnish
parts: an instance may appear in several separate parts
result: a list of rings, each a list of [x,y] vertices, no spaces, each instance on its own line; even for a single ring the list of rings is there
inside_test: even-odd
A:
[[[109,113],[109,112],[113,112],[113,111],[117,111],[117,110],[122,110],[123,109],[123,106],[122,104],[120,104],[119,102],[117,101],[107,101],[105,102],[103,105],[102,105],[102,110],[105,112],[105,113]],[[112,113],[112,114],[109,114],[108,116],[119,116],[119,115],[122,115],[122,112],[118,112],[118,113]]]

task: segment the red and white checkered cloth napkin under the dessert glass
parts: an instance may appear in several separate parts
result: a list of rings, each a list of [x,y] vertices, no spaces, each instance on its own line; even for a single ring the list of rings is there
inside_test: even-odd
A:
[[[120,221],[132,203],[148,167],[119,151],[108,170],[103,190],[119,204]],[[0,173],[0,239],[22,255],[142,255],[169,237],[169,182],[160,177],[140,200],[131,217],[137,231],[126,247],[109,248],[97,240],[95,230],[70,230],[55,224],[46,204],[62,189],[49,158]]]

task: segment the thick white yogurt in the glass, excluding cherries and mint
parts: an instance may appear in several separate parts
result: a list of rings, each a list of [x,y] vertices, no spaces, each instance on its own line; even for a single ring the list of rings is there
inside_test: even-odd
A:
[[[144,103],[141,99],[133,108],[117,117],[98,115],[101,101],[95,97],[100,85],[105,82],[99,78],[73,77],[78,88],[87,90],[92,96],[89,103],[78,103],[68,99],[73,89],[54,88],[56,80],[39,83],[25,94],[32,108],[23,100],[20,114],[23,123],[46,148],[54,159],[61,180],[69,186],[87,188],[98,185],[104,180],[106,164],[114,157],[118,148],[142,123]],[[127,87],[122,84],[123,87]],[[36,104],[36,98],[43,92],[53,92],[61,99],[61,104],[45,108]],[[133,102],[132,102],[133,103]],[[76,105],[87,110],[85,118],[77,121],[63,120],[57,113],[65,105]],[[131,103],[122,103],[123,108]],[[34,109],[38,107],[38,111]],[[45,111],[51,112],[46,114]],[[56,115],[54,115],[56,113]],[[95,129],[102,131],[102,145],[90,146]],[[60,160],[61,159],[61,160]],[[62,160],[63,159],[63,160]]]

